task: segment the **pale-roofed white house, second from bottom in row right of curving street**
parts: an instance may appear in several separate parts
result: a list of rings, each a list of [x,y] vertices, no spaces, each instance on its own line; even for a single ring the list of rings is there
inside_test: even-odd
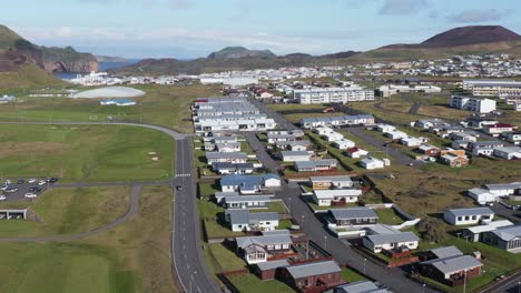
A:
[[[366,235],[363,245],[374,253],[382,251],[405,251],[417,249],[419,238],[413,232]]]

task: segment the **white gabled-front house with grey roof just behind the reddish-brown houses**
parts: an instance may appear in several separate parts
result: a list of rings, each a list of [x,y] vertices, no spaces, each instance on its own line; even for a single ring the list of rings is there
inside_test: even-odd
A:
[[[237,251],[248,264],[262,263],[271,256],[292,251],[292,238],[287,230],[263,232],[258,236],[235,239]]]

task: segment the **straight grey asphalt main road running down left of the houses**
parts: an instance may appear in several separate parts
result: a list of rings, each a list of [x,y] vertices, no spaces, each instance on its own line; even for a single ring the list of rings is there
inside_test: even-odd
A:
[[[176,196],[171,242],[175,271],[185,292],[220,292],[203,256],[193,166],[194,146],[186,139],[178,140],[176,145],[176,178],[173,180]],[[177,186],[181,186],[183,190],[178,190]]]

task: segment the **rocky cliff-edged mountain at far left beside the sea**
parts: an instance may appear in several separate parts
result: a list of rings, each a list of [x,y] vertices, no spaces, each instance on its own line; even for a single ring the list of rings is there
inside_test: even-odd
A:
[[[24,57],[28,64],[37,64],[48,72],[89,72],[98,70],[98,61],[90,53],[80,53],[72,47],[47,48],[31,43],[6,26],[0,24],[0,53],[10,52],[8,58],[18,59]],[[11,60],[14,61],[14,60]],[[8,65],[0,65],[0,71]]]

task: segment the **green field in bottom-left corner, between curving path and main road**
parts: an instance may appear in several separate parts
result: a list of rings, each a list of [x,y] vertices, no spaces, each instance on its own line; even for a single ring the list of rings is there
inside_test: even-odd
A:
[[[138,215],[61,243],[0,243],[0,292],[178,292],[170,261],[171,192],[142,190]]]

